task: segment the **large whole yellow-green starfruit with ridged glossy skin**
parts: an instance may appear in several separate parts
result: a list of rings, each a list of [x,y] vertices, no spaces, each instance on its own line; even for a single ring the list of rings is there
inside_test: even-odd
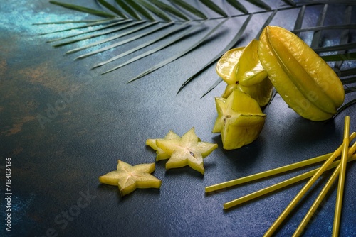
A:
[[[342,83],[303,40],[284,28],[267,26],[259,41],[261,64],[290,108],[312,121],[337,112],[345,98]]]

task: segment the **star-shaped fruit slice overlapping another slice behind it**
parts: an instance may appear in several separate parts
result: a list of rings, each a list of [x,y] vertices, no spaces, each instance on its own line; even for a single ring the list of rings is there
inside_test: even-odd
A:
[[[218,147],[216,143],[202,142],[195,134],[194,127],[180,139],[157,139],[156,145],[170,155],[166,163],[167,170],[188,165],[203,175],[203,158]]]

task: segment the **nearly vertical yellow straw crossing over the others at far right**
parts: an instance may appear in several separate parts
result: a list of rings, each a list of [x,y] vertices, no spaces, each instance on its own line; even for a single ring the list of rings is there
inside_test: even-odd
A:
[[[348,153],[349,143],[350,143],[349,132],[350,132],[350,116],[346,116],[345,117],[345,127],[344,127],[344,141],[342,144],[343,148],[342,148],[341,163],[340,163],[341,167],[340,167],[339,183],[337,185],[333,237],[339,236],[341,209],[342,209],[342,197],[344,195],[344,187],[345,187],[347,153]]]

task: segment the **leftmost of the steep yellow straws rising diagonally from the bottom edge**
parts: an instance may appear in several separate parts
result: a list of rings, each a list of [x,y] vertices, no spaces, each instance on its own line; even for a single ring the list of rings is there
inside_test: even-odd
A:
[[[345,136],[344,136],[345,137]],[[282,224],[282,222],[284,221],[284,219],[286,219],[286,216],[288,216],[288,214],[290,214],[290,211],[293,210],[294,206],[296,204],[298,204],[298,202],[300,201],[300,199],[303,197],[303,195],[308,192],[308,189],[314,184],[314,182],[316,180],[318,180],[318,178],[320,177],[320,175],[323,174],[323,172],[325,172],[325,170],[331,165],[331,163],[342,153],[342,150],[344,148],[344,145],[341,145],[339,148],[337,148],[337,150],[335,150],[335,152],[330,155],[330,158],[328,158],[328,160],[326,160],[324,162],[324,164],[318,169],[317,172],[315,172],[315,174],[313,175],[313,177],[310,178],[310,180],[304,185],[304,187],[302,189],[300,189],[300,192],[298,192],[298,194],[294,197],[294,199],[292,200],[292,202],[290,202],[290,204],[288,204],[288,206],[286,207],[286,209],[284,209],[284,211],[282,212],[282,214],[280,216],[278,216],[278,218],[276,219],[276,221],[272,224],[272,226],[270,228],[268,228],[268,230],[266,231],[266,233],[264,234],[264,236],[272,236],[272,234],[277,230],[277,228]]]

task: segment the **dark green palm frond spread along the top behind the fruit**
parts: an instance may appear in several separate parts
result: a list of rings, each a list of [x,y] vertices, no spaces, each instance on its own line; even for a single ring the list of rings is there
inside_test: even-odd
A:
[[[125,67],[125,65],[130,62],[135,62],[142,59],[142,57],[150,57],[150,55],[157,53],[160,50],[164,50],[179,42],[182,38],[192,37],[197,31],[204,32],[204,35],[192,45],[187,46],[182,50],[179,50],[176,55],[172,55],[162,62],[157,62],[156,65],[151,68],[145,69],[140,72],[139,75],[130,79],[130,82],[145,75],[158,70],[160,67],[167,65],[174,60],[177,60],[183,55],[192,53],[197,50],[202,43],[209,40],[216,30],[229,23],[232,19],[242,19],[241,24],[234,26],[236,34],[234,37],[221,47],[219,53],[216,55],[211,55],[209,62],[207,62],[203,67],[196,69],[194,75],[185,80],[177,92],[180,92],[184,87],[189,84],[193,79],[199,77],[201,72],[212,67],[214,63],[219,60],[219,57],[229,50],[239,46],[241,39],[244,38],[248,33],[246,29],[250,26],[251,22],[255,24],[253,28],[258,28],[259,31],[255,38],[258,38],[259,34],[263,28],[273,23],[273,20],[278,16],[278,13],[283,13],[284,11],[295,10],[298,11],[297,16],[294,17],[295,21],[294,28],[290,28],[290,31],[303,38],[303,35],[309,35],[309,41],[307,42],[310,47],[315,50],[316,53],[320,54],[325,61],[330,62],[333,65],[335,72],[342,79],[345,85],[345,92],[351,93],[355,92],[355,82],[356,82],[356,68],[355,66],[343,67],[347,62],[352,62],[356,60],[356,42],[352,42],[350,38],[350,31],[356,29],[355,17],[355,5],[356,1],[342,1],[342,0],[199,0],[199,1],[187,1],[187,0],[95,0],[97,3],[96,9],[91,9],[84,6],[79,6],[78,4],[67,4],[60,1],[50,1],[51,4],[64,7],[66,9],[80,11],[82,13],[87,13],[90,16],[95,17],[94,19],[86,21],[58,21],[58,22],[48,22],[47,24],[67,24],[70,23],[78,24],[78,26],[73,26],[70,28],[65,28],[61,31],[52,31],[48,33],[43,33],[43,35],[50,35],[51,33],[62,32],[67,33],[67,35],[61,38],[53,38],[48,40],[48,43],[53,43],[53,47],[61,47],[63,45],[73,45],[74,43],[82,42],[80,47],[72,48],[68,50],[70,53],[79,53],[82,50],[88,50],[88,53],[84,53],[76,57],[80,60],[84,57],[90,57],[97,53],[105,53],[105,51],[111,50],[112,48],[120,47],[126,43],[130,43],[135,40],[142,40],[145,37],[152,35],[154,33],[160,33],[153,40],[142,40],[142,43],[135,48],[127,49],[124,53],[119,55],[113,55],[110,59],[104,62],[98,62],[98,64],[93,65],[92,68],[102,67],[104,65],[113,65],[115,60],[130,55],[131,53],[144,49],[148,45],[156,44],[156,48],[147,50],[145,53],[137,57],[132,57],[125,63],[119,65],[114,65],[108,70],[100,72],[100,74],[105,74],[108,72],[114,72],[120,67]],[[311,9],[318,7],[319,15],[313,24],[305,24],[305,15]],[[332,11],[333,6],[341,6],[345,9],[344,19],[342,23],[333,24],[328,21],[330,18],[330,11]],[[353,14],[352,14],[353,13]],[[256,26],[256,21],[254,18],[258,16],[267,16],[266,20],[261,22],[258,21]],[[352,21],[353,20],[353,21]],[[289,19],[290,21],[290,19]],[[209,23],[209,26],[206,26]],[[45,23],[38,23],[42,25]],[[231,28],[232,24],[229,24]],[[70,33],[71,30],[80,31],[79,33]],[[325,39],[323,34],[328,31],[340,32],[340,38],[335,40],[335,43],[325,44]],[[115,42],[114,40],[120,39],[125,35],[129,35],[130,38]],[[311,35],[311,37],[310,37]],[[214,35],[215,38],[217,35]],[[219,36],[224,37],[224,36]],[[217,37],[217,38],[219,38]],[[169,38],[167,40],[167,38]],[[84,40],[92,39],[93,42],[85,43]],[[98,49],[95,49],[98,48]],[[347,64],[347,65],[355,65]],[[207,89],[206,93],[210,92],[214,87],[216,87],[220,78],[217,78],[216,82]],[[204,95],[205,95],[204,94]],[[204,96],[203,95],[203,96]],[[351,104],[355,103],[352,102]]]

